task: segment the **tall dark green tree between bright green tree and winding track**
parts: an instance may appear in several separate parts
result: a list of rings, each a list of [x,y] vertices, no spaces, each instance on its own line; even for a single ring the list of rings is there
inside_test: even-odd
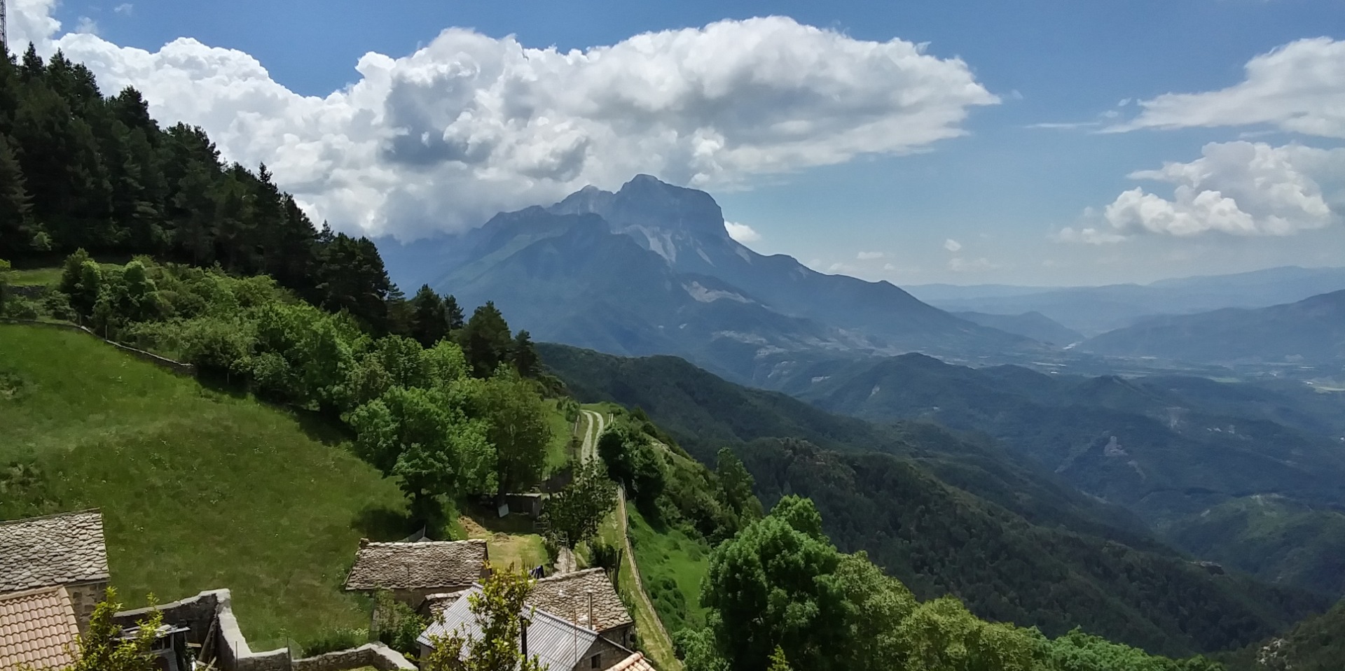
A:
[[[534,385],[512,370],[502,370],[482,385],[480,414],[495,445],[498,494],[521,491],[542,477],[551,428]]]

